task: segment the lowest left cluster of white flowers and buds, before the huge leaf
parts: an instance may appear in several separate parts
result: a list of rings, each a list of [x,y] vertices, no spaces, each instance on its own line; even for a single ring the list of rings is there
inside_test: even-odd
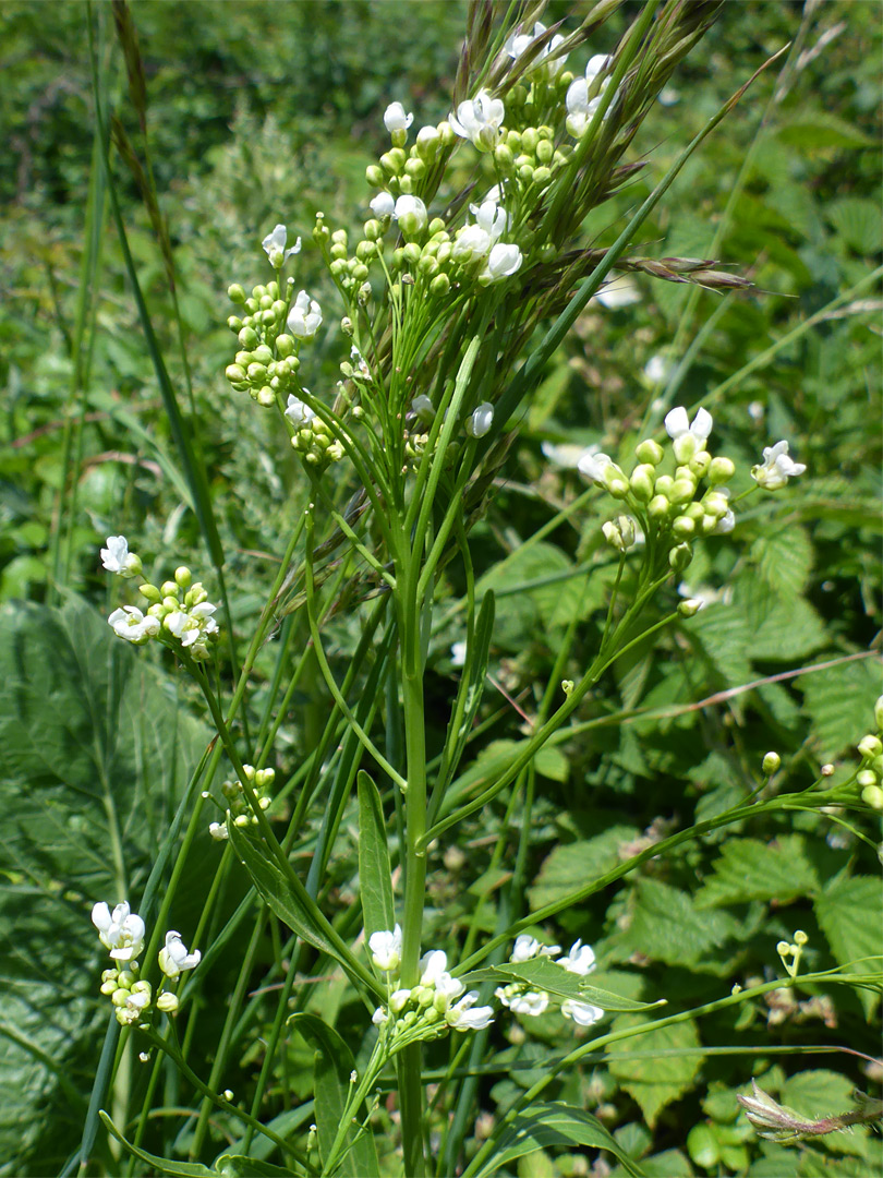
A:
[[[153,1004],[153,987],[139,978],[138,958],[144,951],[145,926],[141,918],[131,911],[125,901],[118,904],[111,912],[106,904],[97,904],[92,908],[92,924],[98,929],[98,937],[117,965],[101,974],[101,993],[109,994],[114,1006],[117,1021],[130,1026],[142,1019]],[[165,978],[173,981],[185,969],[199,965],[201,954],[198,949],[188,953],[181,934],[174,931],[166,933],[165,945],[159,951],[159,967]],[[178,995],[165,990],[162,981],[157,995],[155,1008],[166,1014],[178,1010]]]

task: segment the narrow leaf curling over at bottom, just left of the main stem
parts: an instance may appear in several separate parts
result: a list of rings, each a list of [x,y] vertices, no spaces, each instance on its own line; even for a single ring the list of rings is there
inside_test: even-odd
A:
[[[356,1067],[352,1052],[332,1027],[316,1014],[293,1014],[288,1026],[298,1031],[314,1048],[314,1094],[316,1129],[319,1137],[319,1153],[323,1163],[327,1163],[331,1147],[343,1124],[347,1099],[352,1090],[350,1077]],[[358,1111],[360,1121],[367,1119],[367,1108],[363,1104]],[[347,1133],[343,1154],[343,1173],[359,1174],[359,1178],[376,1178],[378,1174],[377,1151],[373,1134],[356,1133],[356,1126]],[[338,1153],[338,1166],[340,1157]]]

